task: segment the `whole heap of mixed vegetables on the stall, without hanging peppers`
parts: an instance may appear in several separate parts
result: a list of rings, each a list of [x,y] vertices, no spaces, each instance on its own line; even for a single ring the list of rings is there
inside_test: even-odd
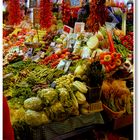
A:
[[[91,103],[99,100],[113,111],[132,113],[126,84],[119,89],[115,80],[108,82],[110,72],[126,70],[128,58],[133,65],[132,50],[121,41],[126,37],[113,33],[110,41],[105,26],[96,33],[65,34],[57,31],[58,24],[50,30],[16,28],[4,37],[4,95],[13,125],[39,126],[89,114]],[[15,46],[20,53],[9,51]]]

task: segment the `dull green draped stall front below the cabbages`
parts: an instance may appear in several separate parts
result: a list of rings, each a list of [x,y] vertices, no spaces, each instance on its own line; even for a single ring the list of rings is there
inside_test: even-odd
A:
[[[71,117],[64,122],[53,122],[32,128],[32,140],[63,140],[103,125],[100,112]]]

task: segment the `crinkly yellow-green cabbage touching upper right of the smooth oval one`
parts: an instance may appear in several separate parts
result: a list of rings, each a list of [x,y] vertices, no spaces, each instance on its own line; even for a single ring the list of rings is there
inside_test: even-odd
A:
[[[58,101],[58,93],[53,88],[46,88],[38,91],[38,96],[47,106],[53,105]]]

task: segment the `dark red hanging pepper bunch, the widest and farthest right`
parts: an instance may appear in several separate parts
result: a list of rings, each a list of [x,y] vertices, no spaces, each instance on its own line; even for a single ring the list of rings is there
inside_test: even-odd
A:
[[[100,26],[105,24],[107,16],[105,0],[92,0],[90,3],[90,15],[87,19],[88,31],[98,32]]]

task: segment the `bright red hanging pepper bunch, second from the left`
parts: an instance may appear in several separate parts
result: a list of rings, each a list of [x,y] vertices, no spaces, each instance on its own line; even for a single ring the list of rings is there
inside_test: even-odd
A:
[[[53,14],[50,0],[40,1],[40,26],[41,28],[50,28],[52,25]]]

